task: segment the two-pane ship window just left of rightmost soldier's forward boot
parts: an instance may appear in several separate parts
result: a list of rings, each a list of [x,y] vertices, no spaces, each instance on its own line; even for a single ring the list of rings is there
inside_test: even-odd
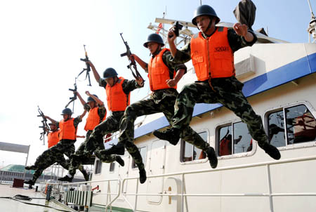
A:
[[[233,139],[232,139],[233,138]],[[252,138],[246,124],[242,121],[218,128],[218,156],[249,152]],[[232,143],[232,140],[234,142]]]

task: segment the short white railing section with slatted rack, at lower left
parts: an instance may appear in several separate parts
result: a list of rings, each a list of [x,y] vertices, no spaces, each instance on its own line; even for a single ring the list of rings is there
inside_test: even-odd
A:
[[[111,192],[111,182],[117,182],[117,190]],[[107,192],[105,193],[93,193],[93,188],[91,187],[94,183],[107,183]],[[119,198],[121,194],[121,179],[107,179],[107,180],[91,180],[78,183],[41,183],[45,184],[45,193],[48,191],[48,186],[51,187],[51,200],[63,202],[66,205],[79,205],[84,208],[89,208],[92,206],[93,194],[106,194],[107,201],[105,210],[110,208],[112,211],[112,203]],[[112,199],[112,195],[114,198]],[[110,198],[109,198],[110,197]],[[46,197],[47,198],[47,197]]]

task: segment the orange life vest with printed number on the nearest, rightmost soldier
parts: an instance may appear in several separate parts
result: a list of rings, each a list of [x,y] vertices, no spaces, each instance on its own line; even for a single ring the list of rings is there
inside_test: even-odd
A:
[[[228,28],[218,27],[211,37],[202,32],[191,39],[191,59],[199,81],[235,76],[234,53],[228,43]]]

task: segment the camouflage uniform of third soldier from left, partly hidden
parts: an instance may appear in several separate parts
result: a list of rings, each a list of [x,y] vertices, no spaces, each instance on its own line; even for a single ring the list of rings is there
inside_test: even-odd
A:
[[[90,111],[90,107],[87,103],[86,103],[86,105],[84,105],[84,109],[87,110],[88,112]],[[105,117],[106,111],[107,110],[105,109],[104,105],[102,105],[102,106],[98,105],[98,115],[100,117],[100,121],[102,121],[103,118]],[[80,144],[80,146],[78,147],[77,151],[74,154],[77,154],[77,155],[84,154],[84,149],[86,148],[86,143],[88,142],[88,139],[90,138],[90,135],[92,132],[93,131],[86,132],[86,139],[84,140],[83,143]],[[100,145],[98,148],[100,148],[100,150],[104,150],[104,145]],[[77,163],[77,161],[72,159],[70,161],[70,168],[69,168],[68,173],[73,176],[76,173],[76,170],[79,169],[81,171],[81,169],[83,168],[83,165],[86,164],[88,161],[89,161],[88,157],[84,158],[84,160],[82,160],[82,161],[79,161],[79,163]]]

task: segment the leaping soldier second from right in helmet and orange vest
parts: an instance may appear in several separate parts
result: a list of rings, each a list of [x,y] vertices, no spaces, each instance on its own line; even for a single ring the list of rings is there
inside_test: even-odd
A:
[[[140,100],[126,107],[120,124],[119,143],[109,150],[102,151],[104,154],[124,154],[125,145],[126,150],[130,152],[139,168],[140,183],[145,183],[146,172],[139,150],[133,144],[134,121],[137,117],[143,115],[162,112],[171,123],[174,104],[178,95],[178,91],[176,90],[177,84],[187,69],[185,65],[180,63],[176,64],[171,61],[171,53],[168,48],[163,48],[164,41],[159,34],[150,34],[143,46],[148,48],[152,55],[149,63],[144,62],[138,58],[137,55],[131,55],[131,57],[135,58],[138,64],[148,73],[152,94],[150,98]],[[204,150],[209,157],[211,166],[216,168],[216,153],[213,147],[210,147],[199,134],[193,131],[192,128],[187,127],[185,131],[183,131],[181,138]],[[176,145],[178,140],[171,141],[170,143]]]

